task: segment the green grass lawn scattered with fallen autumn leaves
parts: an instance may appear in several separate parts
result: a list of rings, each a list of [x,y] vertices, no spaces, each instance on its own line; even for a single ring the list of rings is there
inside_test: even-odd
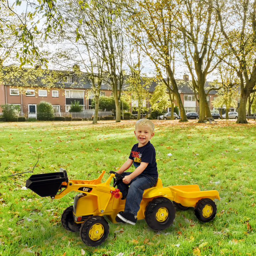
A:
[[[106,241],[88,247],[60,222],[76,193],[41,198],[26,190],[31,173],[10,175],[63,167],[69,179],[91,180],[102,170],[106,179],[137,142],[135,121],[0,123],[0,255],[256,255],[256,122],[153,122],[151,143],[163,185],[218,190],[221,200],[215,202],[212,222],[199,222],[192,208],[177,210],[170,228],[159,232],[145,220],[135,226],[108,221]]]

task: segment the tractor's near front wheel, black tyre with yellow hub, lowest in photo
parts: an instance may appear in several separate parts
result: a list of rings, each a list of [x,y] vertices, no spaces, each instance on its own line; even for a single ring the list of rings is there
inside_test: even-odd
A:
[[[109,233],[107,221],[101,216],[92,216],[82,223],[80,228],[80,237],[82,241],[89,246],[98,246],[102,244]]]

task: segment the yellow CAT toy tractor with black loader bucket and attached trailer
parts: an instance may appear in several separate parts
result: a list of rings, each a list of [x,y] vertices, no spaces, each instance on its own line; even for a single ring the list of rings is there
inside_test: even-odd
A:
[[[66,171],[34,174],[26,181],[26,187],[41,197],[59,199],[70,191],[77,191],[72,206],[61,215],[63,227],[71,232],[79,232],[81,240],[89,246],[102,244],[109,233],[105,217],[112,223],[116,215],[124,210],[125,199],[115,186],[123,176],[110,171],[105,182],[102,177],[95,180],[69,180]],[[113,186],[110,185],[113,180]],[[137,219],[145,219],[153,230],[169,228],[175,218],[176,209],[194,207],[194,213],[201,222],[209,222],[217,212],[214,199],[219,199],[216,190],[200,191],[198,185],[163,187],[159,178],[156,185],[144,191]],[[176,209],[175,209],[176,208]]]

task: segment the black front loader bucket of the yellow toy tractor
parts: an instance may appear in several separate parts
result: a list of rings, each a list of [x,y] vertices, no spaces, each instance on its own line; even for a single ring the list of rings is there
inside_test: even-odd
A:
[[[33,174],[26,180],[26,187],[41,197],[54,197],[62,187],[63,182],[68,182],[66,171],[60,168],[59,172],[46,174]]]

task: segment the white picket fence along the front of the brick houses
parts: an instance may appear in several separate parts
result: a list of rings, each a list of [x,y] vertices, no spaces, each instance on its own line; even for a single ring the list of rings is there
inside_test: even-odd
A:
[[[2,113],[0,113],[0,116]],[[26,118],[36,118],[36,113],[20,113],[20,116],[24,116]],[[55,112],[54,116],[59,117],[72,117],[72,119],[92,119],[94,116],[94,111],[83,111],[83,112]],[[98,117],[102,118],[105,116],[112,116],[112,111],[98,111]]]

